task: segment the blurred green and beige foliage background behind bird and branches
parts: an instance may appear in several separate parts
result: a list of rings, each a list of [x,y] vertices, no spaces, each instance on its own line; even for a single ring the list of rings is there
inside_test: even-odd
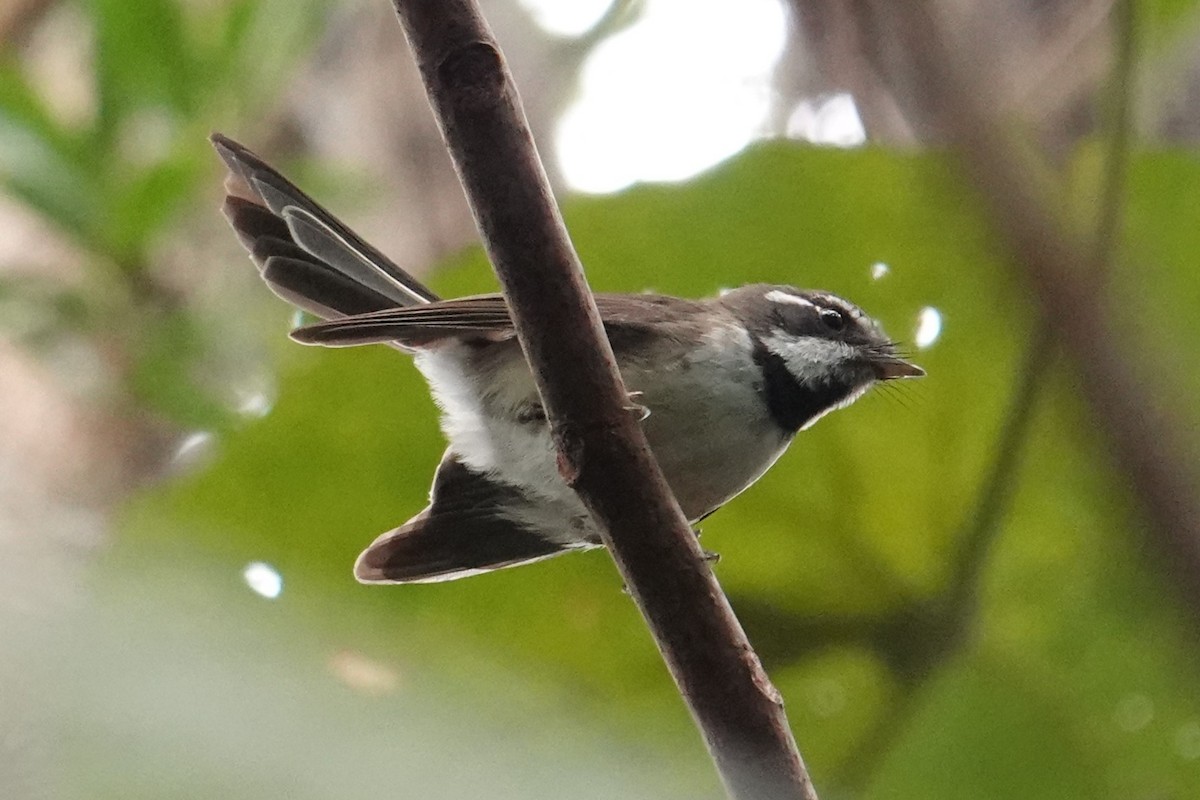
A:
[[[756,140],[604,194],[556,157],[559,122],[606,52],[636,34],[668,62],[691,29],[649,26],[670,0],[570,32],[532,0],[485,11],[593,287],[821,287],[919,343],[928,378],[800,434],[703,525],[821,796],[1200,796],[1200,609],[1070,363],[1020,391],[1038,321],[992,221],[839,4],[763,4]],[[1112,313],[1195,452],[1200,4],[940,5],[1064,224],[1092,230],[1126,164]],[[676,6],[726,28],[713,59],[734,49],[738,4]],[[389,4],[7,0],[0,47],[0,796],[721,796],[604,553],[350,577],[424,505],[437,413],[386,348],[287,342],[205,137],[437,291],[491,290]],[[853,146],[812,124],[840,92]],[[680,148],[748,114],[714,106],[677,120]]]

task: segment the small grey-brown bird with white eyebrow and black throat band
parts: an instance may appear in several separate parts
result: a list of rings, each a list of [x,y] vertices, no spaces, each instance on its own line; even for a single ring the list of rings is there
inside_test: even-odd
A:
[[[244,145],[214,133],[222,205],[259,275],[323,321],[314,345],[389,344],[415,359],[449,441],[428,505],[359,555],[362,583],[432,583],[602,547],[558,473],[512,318],[498,294],[443,300]],[[918,378],[881,326],[834,294],[755,283],[689,300],[595,295],[630,408],[696,524],[797,433],[872,385]]]

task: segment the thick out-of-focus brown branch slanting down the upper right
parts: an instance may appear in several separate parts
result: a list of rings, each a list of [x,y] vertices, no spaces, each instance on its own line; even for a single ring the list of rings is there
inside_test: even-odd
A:
[[[958,146],[967,173],[991,206],[1014,267],[1032,289],[1042,318],[1073,356],[1114,463],[1130,479],[1151,522],[1150,533],[1166,555],[1165,569],[1174,573],[1193,614],[1200,616],[1198,458],[1189,449],[1187,427],[1158,402],[1163,393],[1150,380],[1153,373],[1136,372],[1135,359],[1120,345],[1123,337],[1110,319],[1103,291],[1111,259],[1105,229],[1087,241],[1058,222],[1049,198],[1032,180],[1036,170],[980,104],[972,91],[971,65],[947,47],[928,4],[866,0],[866,6],[878,29],[902,40],[914,73],[911,83],[922,88],[922,110]],[[1132,17],[1123,20],[1129,26],[1123,36],[1132,36]],[[1132,43],[1123,41],[1122,47],[1132,48]],[[1132,58],[1126,53],[1132,49],[1118,58]],[[1121,158],[1110,169],[1123,172]],[[1114,219],[1115,198],[1105,199],[1111,210],[1103,212]],[[1108,224],[1115,235],[1115,222]]]

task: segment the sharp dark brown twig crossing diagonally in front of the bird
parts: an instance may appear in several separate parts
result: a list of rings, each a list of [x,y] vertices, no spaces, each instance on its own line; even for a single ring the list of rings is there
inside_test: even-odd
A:
[[[779,693],[628,405],[516,88],[472,0],[395,0],[559,452],[739,799],[816,794]]]

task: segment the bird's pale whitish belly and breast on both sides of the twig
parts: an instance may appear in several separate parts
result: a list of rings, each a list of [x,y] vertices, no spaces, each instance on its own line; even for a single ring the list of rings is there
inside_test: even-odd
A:
[[[762,476],[787,447],[791,437],[776,426],[760,396],[760,378],[749,357],[727,359],[728,345],[714,342],[686,359],[642,369],[623,363],[636,403],[650,409],[642,423],[664,476],[689,519],[720,507]],[[538,395],[520,350],[492,363],[485,380],[470,353],[443,350],[419,357],[418,366],[443,409],[450,447],[472,469],[490,471],[508,483],[542,495],[570,516],[582,504],[558,474],[557,453],[546,423],[522,419]],[[432,354],[431,354],[432,355]],[[715,363],[728,360],[730,363]],[[714,380],[714,378],[716,378]],[[485,383],[490,396],[475,389]]]

